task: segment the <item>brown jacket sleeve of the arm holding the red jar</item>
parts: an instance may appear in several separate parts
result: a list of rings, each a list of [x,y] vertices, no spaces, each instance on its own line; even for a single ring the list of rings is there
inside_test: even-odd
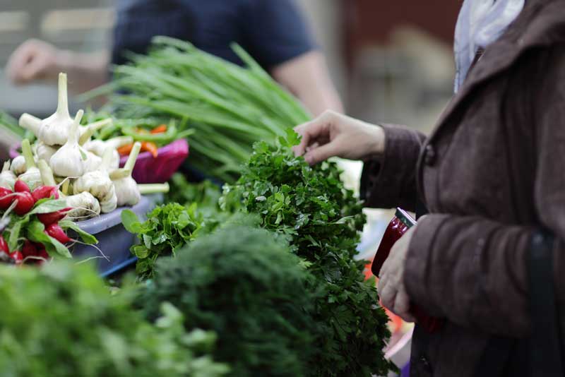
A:
[[[408,248],[405,284],[410,298],[430,314],[488,333],[528,335],[527,254],[531,237],[540,229],[554,236],[555,292],[559,310],[565,310],[564,52],[550,54],[546,76],[538,81],[544,103],[532,104],[535,140],[524,150],[536,159],[532,200],[537,224],[508,225],[460,215],[423,217]]]

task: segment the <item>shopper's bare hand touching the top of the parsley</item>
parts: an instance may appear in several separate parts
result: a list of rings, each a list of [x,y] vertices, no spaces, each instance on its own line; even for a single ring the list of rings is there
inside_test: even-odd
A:
[[[361,160],[384,150],[382,127],[337,112],[324,112],[297,126],[295,131],[302,136],[300,144],[294,148],[295,155],[304,155],[304,160],[311,165],[330,157]]]

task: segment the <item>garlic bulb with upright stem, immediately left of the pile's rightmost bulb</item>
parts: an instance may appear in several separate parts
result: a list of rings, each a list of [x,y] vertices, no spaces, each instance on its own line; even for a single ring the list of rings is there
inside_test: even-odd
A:
[[[73,184],[73,193],[91,193],[100,202],[102,213],[112,212],[117,208],[118,198],[114,184],[108,174],[112,150],[107,148],[102,156],[102,164],[94,172],[85,173]]]

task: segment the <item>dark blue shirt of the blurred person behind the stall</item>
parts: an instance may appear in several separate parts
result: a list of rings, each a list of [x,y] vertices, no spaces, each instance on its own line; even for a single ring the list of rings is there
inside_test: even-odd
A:
[[[242,64],[230,48],[237,42],[267,70],[314,48],[293,0],[121,0],[112,63],[124,64],[126,51],[145,53],[155,35]]]

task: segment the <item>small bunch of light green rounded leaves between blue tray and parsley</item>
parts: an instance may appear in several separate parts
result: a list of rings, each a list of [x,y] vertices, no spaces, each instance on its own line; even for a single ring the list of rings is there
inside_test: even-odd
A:
[[[153,276],[158,257],[174,255],[207,226],[203,216],[196,213],[196,205],[160,205],[147,217],[148,220],[140,222],[131,210],[121,212],[126,230],[137,234],[140,240],[140,244],[131,246],[131,252],[138,257],[136,273],[141,279]]]

